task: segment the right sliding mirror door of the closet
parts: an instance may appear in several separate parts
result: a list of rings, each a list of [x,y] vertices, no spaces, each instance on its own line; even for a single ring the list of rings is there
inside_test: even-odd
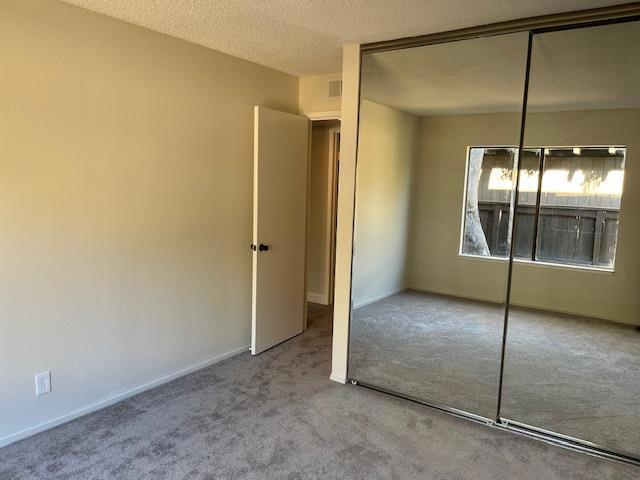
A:
[[[500,415],[640,457],[640,24],[533,36]]]

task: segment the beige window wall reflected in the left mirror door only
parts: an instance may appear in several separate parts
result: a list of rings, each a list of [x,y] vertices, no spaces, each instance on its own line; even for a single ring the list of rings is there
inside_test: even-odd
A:
[[[458,257],[465,162],[469,145],[517,145],[519,132],[517,114],[422,118],[412,185],[413,288],[503,301],[505,264]]]

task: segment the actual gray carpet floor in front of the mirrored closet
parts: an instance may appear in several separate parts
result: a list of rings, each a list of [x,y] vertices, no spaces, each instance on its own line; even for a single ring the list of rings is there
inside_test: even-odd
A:
[[[0,449],[13,479],[631,480],[635,467],[329,381],[330,322]]]

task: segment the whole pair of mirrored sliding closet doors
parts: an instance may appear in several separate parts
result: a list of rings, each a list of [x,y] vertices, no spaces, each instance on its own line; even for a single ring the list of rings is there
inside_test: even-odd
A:
[[[638,18],[366,49],[350,379],[640,463]]]

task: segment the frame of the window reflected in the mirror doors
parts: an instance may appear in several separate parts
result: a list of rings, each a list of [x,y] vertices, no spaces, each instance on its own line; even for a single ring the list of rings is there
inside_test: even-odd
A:
[[[505,256],[505,257],[500,257],[500,256],[494,256],[494,255],[476,255],[476,254],[472,254],[472,253],[464,253],[462,251],[462,248],[464,246],[464,229],[465,229],[465,222],[466,222],[466,206],[467,206],[467,185],[468,185],[468,176],[469,176],[469,155],[471,154],[471,149],[473,148],[484,148],[484,149],[515,149],[516,151],[519,150],[517,145],[468,145],[466,148],[466,154],[465,154],[465,166],[464,166],[464,179],[463,179],[463,195],[462,195],[462,205],[461,205],[461,214],[460,214],[460,237],[459,237],[459,241],[458,241],[458,257],[463,258],[463,259],[467,259],[467,260],[483,260],[483,261],[493,261],[493,262],[501,262],[501,263],[508,263],[509,259],[510,259],[510,254]],[[627,145],[545,145],[545,146],[541,146],[541,145],[526,145],[523,146],[522,149],[523,150],[542,150],[544,151],[544,149],[551,149],[551,150],[555,150],[555,149],[573,149],[573,148],[580,148],[580,149],[605,149],[605,148],[616,148],[616,149],[624,149],[624,165],[625,165],[625,169],[623,170],[626,173],[626,159],[627,159]],[[518,159],[519,161],[519,159]],[[519,167],[519,165],[518,165]],[[518,172],[516,172],[517,174],[519,174],[519,168],[517,169]],[[542,172],[540,172],[540,184],[539,184],[539,188],[542,185],[542,177],[544,175],[544,168],[542,170]],[[516,185],[515,185],[515,179],[517,178],[517,176],[513,176],[513,186],[511,189],[511,200],[509,202],[509,229],[511,229],[511,231],[513,231],[513,222],[515,219],[515,214],[516,214]],[[622,191],[624,193],[625,190],[625,185],[627,182],[627,177],[626,175],[623,178],[623,187],[622,187]],[[540,208],[540,194],[541,194],[541,190],[537,192],[537,202],[536,202],[536,209]],[[622,212],[622,195],[620,196],[620,208],[618,210],[619,214],[621,214]],[[536,222],[539,222],[539,218],[536,217]],[[536,235],[539,235],[539,233],[537,232],[538,229],[536,229]],[[551,268],[551,269],[561,269],[561,270],[581,270],[581,271],[585,271],[585,272],[592,272],[592,273],[605,273],[605,274],[613,274],[615,273],[615,267],[616,267],[616,261],[618,259],[618,239],[619,239],[619,233],[616,234],[616,250],[615,250],[615,255],[613,258],[613,265],[611,265],[610,267],[605,267],[605,266],[597,266],[597,265],[580,265],[580,264],[572,264],[572,263],[560,263],[560,262],[549,262],[549,261],[545,261],[545,260],[538,260],[537,258],[535,258],[537,256],[537,246],[539,244],[538,241],[536,241],[536,239],[534,239],[532,248],[534,249],[532,252],[532,257],[531,259],[525,259],[525,258],[520,258],[520,257],[513,257],[513,262],[520,264],[520,265],[526,265],[526,266],[533,266],[533,267],[542,267],[542,268]]]

